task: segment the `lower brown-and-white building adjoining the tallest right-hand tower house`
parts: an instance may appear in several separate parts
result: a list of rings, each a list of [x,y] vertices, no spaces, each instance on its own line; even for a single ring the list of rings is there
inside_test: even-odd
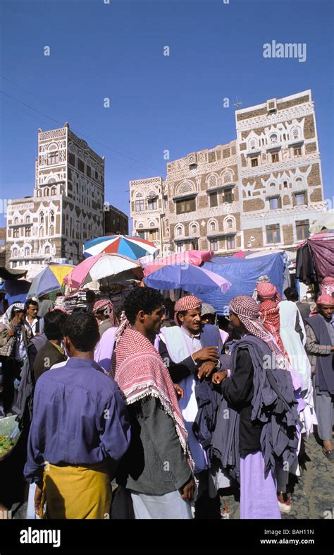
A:
[[[135,234],[160,253],[240,249],[235,141],[169,162],[166,181],[130,181],[130,197]]]

